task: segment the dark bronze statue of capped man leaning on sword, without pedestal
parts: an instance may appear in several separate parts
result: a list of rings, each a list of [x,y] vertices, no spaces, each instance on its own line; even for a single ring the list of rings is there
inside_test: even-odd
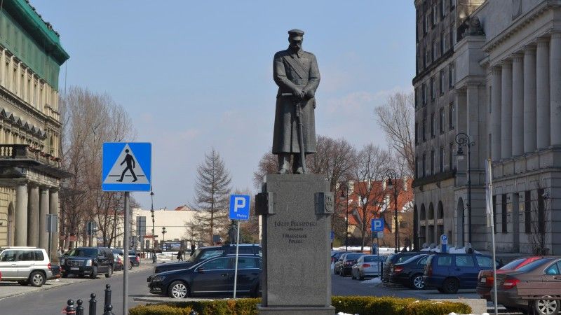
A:
[[[277,52],[273,60],[273,78],[278,85],[273,154],[278,155],[278,174],[288,173],[291,156],[292,172],[304,174],[306,154],[316,153],[313,111],[320,71],[316,56],[302,50],[303,36],[299,29],[288,31],[288,49]]]

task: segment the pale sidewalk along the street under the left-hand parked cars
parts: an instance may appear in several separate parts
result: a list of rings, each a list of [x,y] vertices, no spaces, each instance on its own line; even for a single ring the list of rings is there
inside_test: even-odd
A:
[[[152,265],[151,259],[142,259],[140,260],[140,266],[134,267],[129,272],[141,272],[142,270],[150,269],[154,267]],[[114,272],[114,275],[122,274],[122,271]],[[97,276],[97,279],[104,278],[103,275]],[[17,282],[8,282],[8,281],[1,281],[0,282],[0,300],[4,300],[8,297],[15,297],[22,294],[33,293],[41,290],[50,290],[52,288],[58,288],[60,286],[68,286],[72,283],[81,283],[86,281],[92,281],[89,278],[66,278],[66,279],[56,279],[56,280],[48,280],[43,286],[40,288],[34,286],[20,286]]]

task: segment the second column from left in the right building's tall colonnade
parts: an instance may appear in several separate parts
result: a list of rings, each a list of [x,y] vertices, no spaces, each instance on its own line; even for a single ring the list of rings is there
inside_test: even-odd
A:
[[[501,159],[513,156],[513,64],[505,61],[501,73]]]

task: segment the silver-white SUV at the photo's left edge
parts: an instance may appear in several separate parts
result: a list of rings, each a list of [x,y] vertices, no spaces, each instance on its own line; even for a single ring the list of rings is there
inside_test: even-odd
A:
[[[0,249],[1,281],[18,281],[20,285],[43,286],[55,275],[43,248],[6,247]]]

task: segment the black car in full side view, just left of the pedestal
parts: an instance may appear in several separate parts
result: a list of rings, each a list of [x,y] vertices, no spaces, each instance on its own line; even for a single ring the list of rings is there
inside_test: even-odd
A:
[[[236,255],[209,258],[188,269],[162,272],[151,277],[150,293],[179,299],[191,295],[231,295],[234,293]],[[259,296],[262,260],[258,255],[238,257],[236,294]]]

